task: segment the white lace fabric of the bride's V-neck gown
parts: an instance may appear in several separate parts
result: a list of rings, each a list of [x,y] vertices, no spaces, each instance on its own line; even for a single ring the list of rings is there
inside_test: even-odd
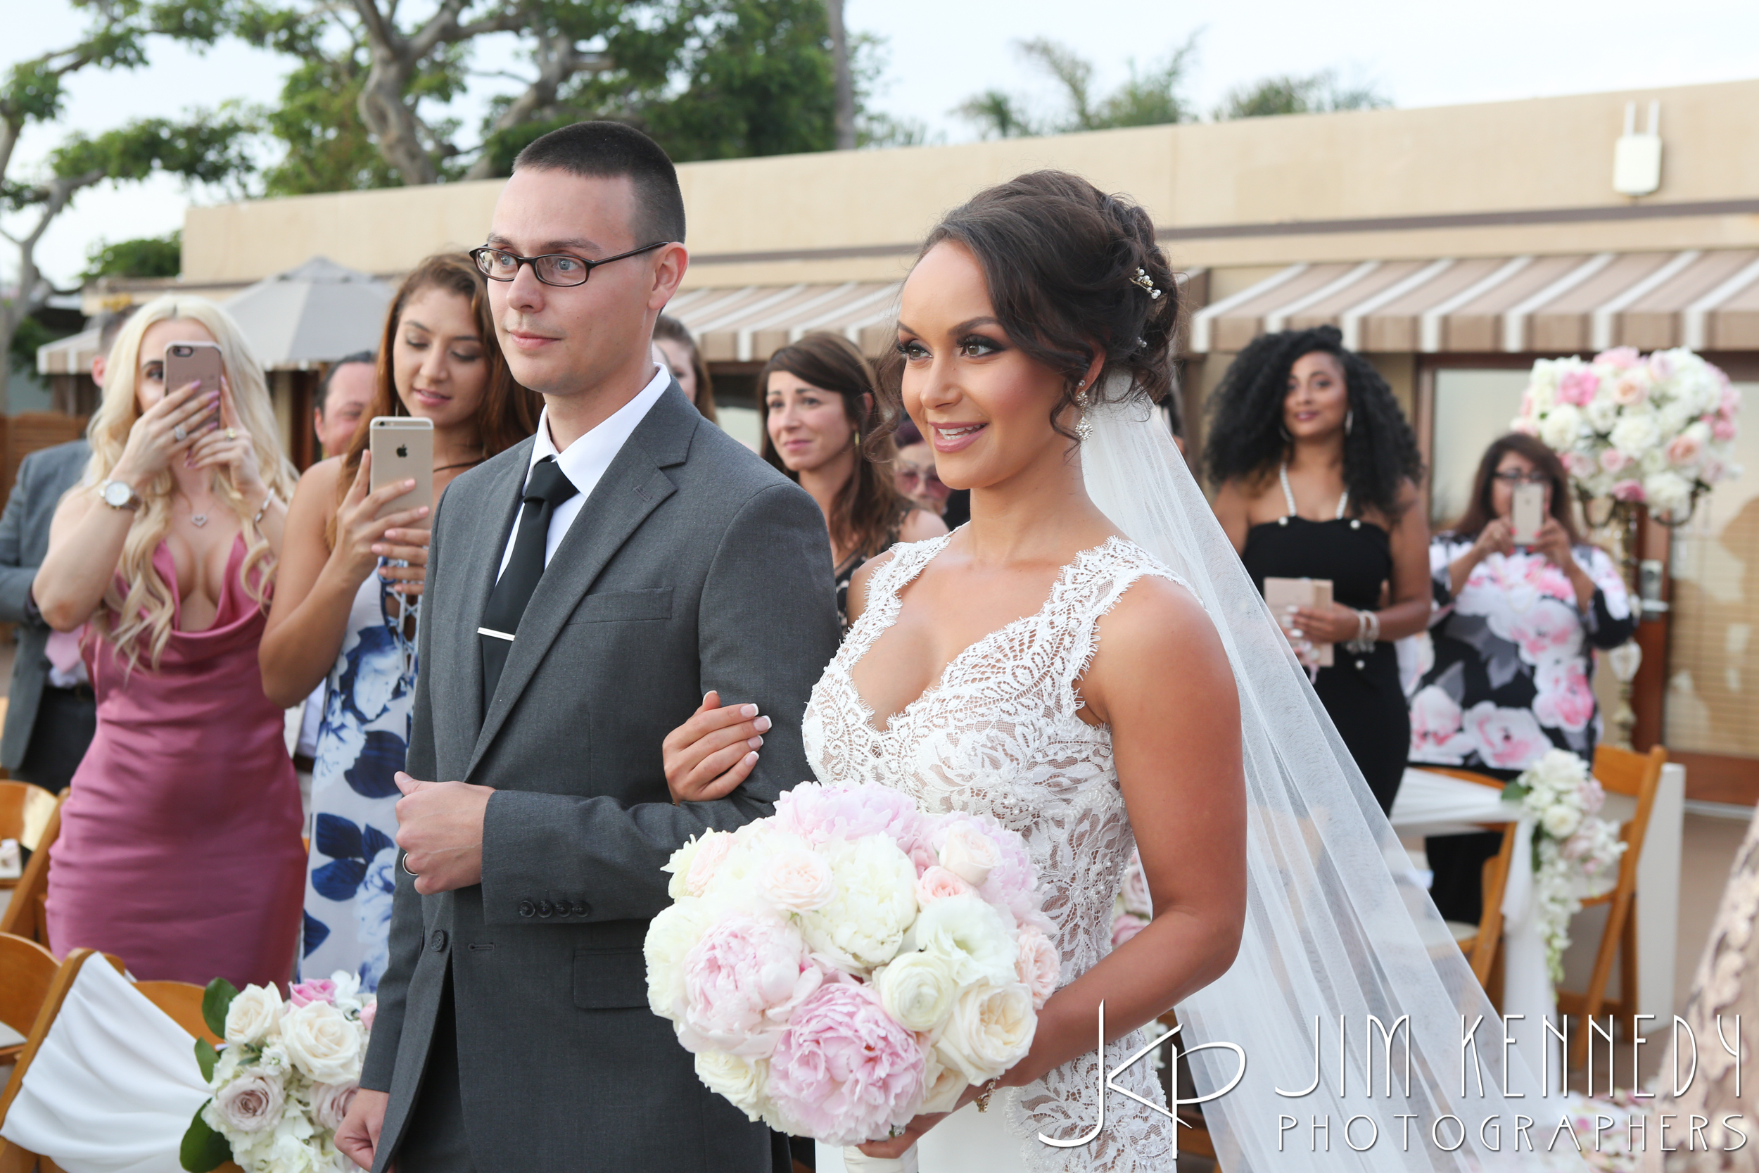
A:
[[[1062,568],[1031,616],[983,637],[946,665],[939,682],[899,710],[887,728],[850,675],[897,621],[899,593],[948,536],[897,545],[874,572],[867,607],[813,688],[802,735],[807,761],[827,786],[881,783],[932,812],[994,816],[1025,837],[1045,914],[1062,951],[1062,983],[1112,950],[1113,899],[1135,848],[1112,763],[1112,732],[1087,725],[1078,681],[1098,647],[1099,619],[1142,575],[1179,580],[1120,538],[1084,550]],[[1106,1046],[1117,1067],[1147,1045],[1140,1031]],[[1171,1122],[1128,1101],[1106,1099],[1106,1127],[1082,1148],[1036,1140],[1077,1136],[1099,1115],[1098,1059],[1089,1053],[1022,1089],[1006,1089],[1008,1118],[1033,1169],[1161,1169],[1171,1164]],[[1119,1083],[1164,1103],[1150,1059]]]

